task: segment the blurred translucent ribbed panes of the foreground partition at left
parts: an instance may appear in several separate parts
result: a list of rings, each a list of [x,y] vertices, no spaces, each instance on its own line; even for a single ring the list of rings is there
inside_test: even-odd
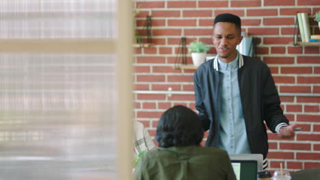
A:
[[[115,11],[111,0],[1,1],[1,46],[112,40]],[[1,50],[0,179],[114,179],[116,53],[54,51]]]

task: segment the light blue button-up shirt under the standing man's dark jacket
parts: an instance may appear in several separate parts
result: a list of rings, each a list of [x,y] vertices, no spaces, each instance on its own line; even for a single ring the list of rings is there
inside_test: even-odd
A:
[[[218,56],[217,56],[218,57]],[[239,54],[234,61],[224,63],[218,58],[220,109],[218,121],[219,148],[230,154],[251,153],[243,118],[239,82]]]

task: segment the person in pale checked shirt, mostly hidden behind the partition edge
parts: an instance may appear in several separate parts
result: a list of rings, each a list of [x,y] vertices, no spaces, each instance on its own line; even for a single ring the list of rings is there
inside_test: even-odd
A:
[[[148,134],[148,130],[146,130],[146,127],[144,127],[143,123],[135,121],[133,132],[133,147],[135,149],[135,156],[142,151],[150,151],[156,148],[155,143],[153,143]]]

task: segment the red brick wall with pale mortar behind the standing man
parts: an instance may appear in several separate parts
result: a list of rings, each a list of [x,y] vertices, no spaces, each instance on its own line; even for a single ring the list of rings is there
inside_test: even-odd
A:
[[[320,93],[319,46],[293,46],[295,14],[320,10],[318,0],[282,1],[139,1],[137,29],[142,29],[147,14],[152,15],[152,42],[150,48],[135,48],[134,116],[142,121],[155,136],[162,112],[176,104],[194,108],[194,95],[152,93],[154,91],[192,92],[194,70],[174,70],[174,61],[181,36],[187,44],[202,40],[211,45],[213,19],[217,14],[229,12],[241,16],[242,29],[258,39],[257,56],[271,68],[278,91],[282,95],[282,108],[290,121],[304,127],[293,140],[280,140],[269,132],[269,170],[284,168],[291,171],[320,166],[320,97],[305,97],[293,93]],[[312,34],[320,34],[317,23],[310,18]],[[187,55],[187,62],[191,57]],[[150,91],[151,94],[141,93]],[[207,133],[206,133],[207,134]]]

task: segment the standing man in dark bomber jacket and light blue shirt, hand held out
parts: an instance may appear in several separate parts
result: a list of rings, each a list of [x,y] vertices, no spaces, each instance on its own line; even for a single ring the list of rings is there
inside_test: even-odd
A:
[[[241,55],[241,19],[219,14],[213,24],[215,59],[206,61],[194,74],[196,108],[207,147],[235,153],[261,153],[267,167],[269,129],[282,138],[295,135],[280,108],[280,99],[269,67],[262,61]]]

